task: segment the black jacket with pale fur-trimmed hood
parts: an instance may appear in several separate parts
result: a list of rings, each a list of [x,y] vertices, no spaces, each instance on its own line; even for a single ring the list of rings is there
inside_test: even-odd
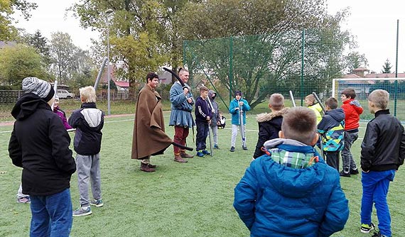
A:
[[[257,138],[256,150],[254,150],[253,158],[258,158],[264,155],[261,150],[266,140],[279,138],[279,131],[281,131],[281,123],[283,122],[283,115],[286,114],[288,108],[274,111],[271,113],[264,113],[257,115],[257,123],[259,126],[259,134]]]

